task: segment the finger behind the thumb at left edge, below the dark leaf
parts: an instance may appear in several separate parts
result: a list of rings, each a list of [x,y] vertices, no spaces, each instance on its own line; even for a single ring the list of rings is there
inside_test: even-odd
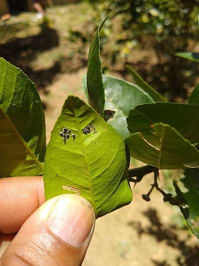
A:
[[[45,202],[42,177],[0,179],[0,233],[17,232]]]

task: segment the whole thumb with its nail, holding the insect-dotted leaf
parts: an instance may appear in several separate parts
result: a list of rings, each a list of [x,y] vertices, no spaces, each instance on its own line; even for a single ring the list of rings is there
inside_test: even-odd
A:
[[[0,265],[79,266],[95,227],[91,204],[65,194],[45,202],[23,224]]]

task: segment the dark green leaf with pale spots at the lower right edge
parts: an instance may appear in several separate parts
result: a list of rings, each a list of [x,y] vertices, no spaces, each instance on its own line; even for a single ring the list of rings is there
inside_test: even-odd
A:
[[[199,238],[199,169],[186,170],[185,178],[181,181],[188,191],[182,192],[177,183],[174,183],[177,200],[188,226]]]

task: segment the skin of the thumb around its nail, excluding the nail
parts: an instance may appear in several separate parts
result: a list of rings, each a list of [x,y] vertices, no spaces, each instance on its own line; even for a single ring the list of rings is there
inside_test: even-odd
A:
[[[27,219],[3,253],[0,266],[80,266],[82,264],[94,226],[89,238],[80,248],[71,246],[54,235],[47,226],[47,220],[59,197],[63,195],[48,200]]]

